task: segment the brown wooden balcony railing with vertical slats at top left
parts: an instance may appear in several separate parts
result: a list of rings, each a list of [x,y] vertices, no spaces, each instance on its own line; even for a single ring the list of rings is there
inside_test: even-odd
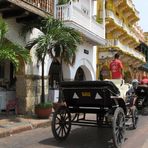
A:
[[[54,0],[22,0],[46,13],[53,15],[54,13]]]

